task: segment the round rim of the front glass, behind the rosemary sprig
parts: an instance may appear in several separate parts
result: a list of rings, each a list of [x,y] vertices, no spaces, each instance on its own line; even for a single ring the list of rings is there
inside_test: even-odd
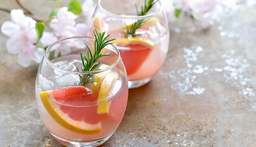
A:
[[[110,69],[113,69],[117,64],[118,62],[120,61],[120,52],[119,50],[115,47],[115,45],[113,44],[109,44],[110,46],[112,46],[114,48],[114,50],[116,51],[117,53],[117,59],[115,60],[115,62],[113,64],[111,64],[110,66],[104,68],[104,69],[98,69],[98,70],[93,70],[93,71],[86,71],[86,72],[83,72],[83,71],[71,71],[71,70],[68,70],[68,69],[63,69],[63,68],[60,68],[58,67],[57,65],[54,65],[50,60],[49,60],[49,57],[47,56],[48,52],[50,51],[50,49],[58,44],[58,43],[62,43],[63,41],[65,40],[69,40],[69,39],[93,39],[95,40],[95,37],[88,37],[88,36],[73,36],[73,37],[67,37],[67,38],[63,38],[63,39],[59,39],[57,41],[54,41],[53,43],[51,43],[45,50],[44,52],[44,59],[45,61],[53,68],[53,69],[57,69],[59,71],[61,71],[62,73],[73,73],[73,74],[85,74],[85,73],[101,73],[101,72],[104,72],[104,71],[107,71],[107,70],[110,70]],[[105,47],[106,48],[106,47]]]

